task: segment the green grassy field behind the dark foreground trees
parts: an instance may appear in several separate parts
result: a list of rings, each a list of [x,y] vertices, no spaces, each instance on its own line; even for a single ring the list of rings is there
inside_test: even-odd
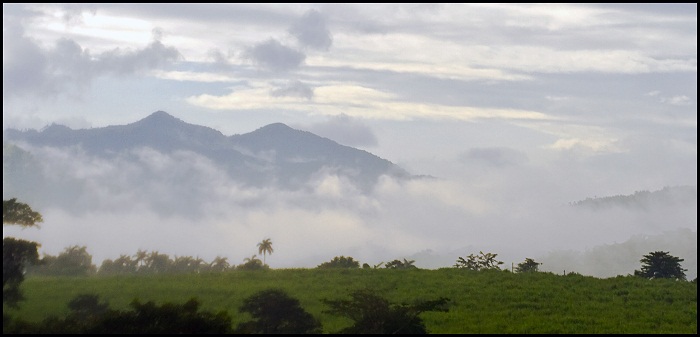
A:
[[[26,299],[15,318],[41,321],[68,313],[79,294],[98,294],[115,309],[142,302],[183,303],[195,297],[201,310],[227,311],[233,325],[244,298],[280,288],[317,317],[324,333],[349,325],[324,313],[323,299],[347,298],[370,288],[392,302],[410,303],[447,297],[448,312],[426,312],[430,333],[697,333],[697,284],[626,276],[608,279],[578,274],[514,274],[505,271],[392,269],[279,269],[209,274],[120,275],[89,277],[30,276],[22,285]]]

